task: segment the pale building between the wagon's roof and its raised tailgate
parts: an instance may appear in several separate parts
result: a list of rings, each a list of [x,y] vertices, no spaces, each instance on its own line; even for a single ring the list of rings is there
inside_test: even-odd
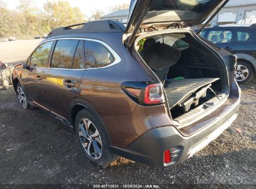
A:
[[[102,20],[103,21],[105,20],[119,21],[124,25],[126,25],[128,22],[128,13],[129,13],[128,9],[111,12],[110,14],[103,16]]]

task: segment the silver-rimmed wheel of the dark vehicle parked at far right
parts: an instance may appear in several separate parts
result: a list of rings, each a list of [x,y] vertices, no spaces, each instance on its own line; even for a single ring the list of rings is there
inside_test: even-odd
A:
[[[237,62],[237,71],[235,71],[235,80],[237,83],[248,83],[254,78],[254,69],[247,62]]]

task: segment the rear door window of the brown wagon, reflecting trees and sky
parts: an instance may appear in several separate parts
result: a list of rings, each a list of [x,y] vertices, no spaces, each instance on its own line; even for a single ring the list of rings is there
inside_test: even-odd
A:
[[[72,68],[78,40],[58,40],[52,55],[51,68]]]

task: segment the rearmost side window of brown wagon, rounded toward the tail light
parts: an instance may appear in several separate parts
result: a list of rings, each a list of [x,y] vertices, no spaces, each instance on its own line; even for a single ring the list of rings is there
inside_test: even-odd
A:
[[[106,67],[114,62],[110,51],[102,44],[85,41],[85,65],[87,68]]]

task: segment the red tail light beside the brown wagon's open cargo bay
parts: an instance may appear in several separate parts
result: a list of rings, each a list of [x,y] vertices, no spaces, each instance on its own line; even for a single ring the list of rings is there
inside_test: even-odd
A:
[[[164,95],[163,95],[163,90],[160,83],[146,86],[144,102],[145,104],[164,103]]]

